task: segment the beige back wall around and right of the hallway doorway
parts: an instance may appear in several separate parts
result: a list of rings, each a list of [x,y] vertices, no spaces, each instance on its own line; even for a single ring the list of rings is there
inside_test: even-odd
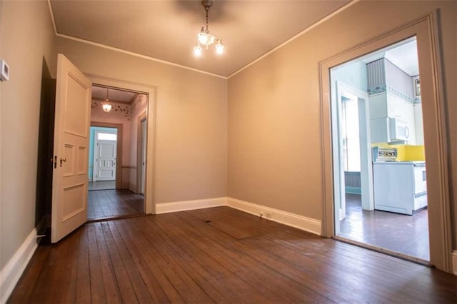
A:
[[[226,196],[227,81],[57,38],[86,74],[156,86],[155,202]]]

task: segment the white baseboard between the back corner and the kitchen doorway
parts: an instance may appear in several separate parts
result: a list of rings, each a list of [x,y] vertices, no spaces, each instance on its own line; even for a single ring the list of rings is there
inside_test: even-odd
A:
[[[236,198],[227,198],[227,206],[246,213],[251,213],[254,216],[260,216],[262,214],[263,218],[266,218],[267,220],[321,235],[321,221],[313,218],[306,218],[305,216],[298,216],[286,211],[240,201]]]

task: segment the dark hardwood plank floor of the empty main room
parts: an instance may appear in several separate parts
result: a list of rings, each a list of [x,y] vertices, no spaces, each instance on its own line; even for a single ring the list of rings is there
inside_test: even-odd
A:
[[[8,303],[456,303],[457,277],[229,207],[88,223]]]

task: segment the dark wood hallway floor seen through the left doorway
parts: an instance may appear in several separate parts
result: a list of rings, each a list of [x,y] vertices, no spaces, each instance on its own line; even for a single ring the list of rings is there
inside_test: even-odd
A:
[[[100,220],[144,213],[144,196],[129,189],[89,191],[87,219]]]

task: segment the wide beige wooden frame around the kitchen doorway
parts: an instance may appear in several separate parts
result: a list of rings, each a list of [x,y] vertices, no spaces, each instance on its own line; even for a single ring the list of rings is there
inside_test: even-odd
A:
[[[452,273],[451,212],[449,201],[448,156],[446,154],[446,112],[443,98],[441,52],[438,41],[438,12],[415,19],[370,41],[354,46],[336,56],[321,61],[321,153],[323,218],[322,235],[334,236],[333,161],[331,138],[330,69],[398,41],[416,36],[418,44],[421,93],[423,101],[424,141],[427,157],[428,230],[430,263]]]

